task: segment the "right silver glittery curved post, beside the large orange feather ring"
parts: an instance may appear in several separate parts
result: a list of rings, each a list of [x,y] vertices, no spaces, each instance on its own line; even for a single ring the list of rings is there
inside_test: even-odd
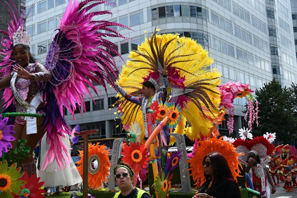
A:
[[[170,133],[176,140],[177,150],[181,150],[181,159],[179,160],[179,171],[181,174],[181,192],[189,193],[191,192],[191,182],[189,175],[189,165],[187,162],[187,150],[186,150],[186,142],[184,135],[178,133]]]

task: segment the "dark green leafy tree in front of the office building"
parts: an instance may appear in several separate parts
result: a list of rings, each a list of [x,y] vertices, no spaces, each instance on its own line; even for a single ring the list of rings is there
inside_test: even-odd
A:
[[[295,85],[296,86],[296,85]],[[254,136],[262,136],[266,132],[276,132],[277,139],[287,144],[295,141],[296,138],[296,121],[297,103],[293,103],[292,90],[294,88],[282,88],[276,79],[265,83],[263,88],[255,91],[256,99],[259,104],[258,121],[259,126],[253,132]],[[296,88],[294,90],[296,92]],[[295,100],[297,97],[295,94]]]

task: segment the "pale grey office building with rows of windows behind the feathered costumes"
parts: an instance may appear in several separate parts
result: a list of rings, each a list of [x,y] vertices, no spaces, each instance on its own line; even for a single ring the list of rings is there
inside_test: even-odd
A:
[[[27,0],[30,7],[32,0]],[[116,5],[103,4],[90,11],[112,10],[113,15],[101,19],[118,22],[133,30],[113,27],[126,37],[126,41],[110,38],[118,44],[119,52],[125,60],[129,51],[137,49],[147,31],[160,33],[179,33],[200,43],[214,58],[211,68],[222,73],[222,83],[240,81],[249,83],[252,90],[262,88],[264,83],[277,78],[282,86],[296,82],[297,62],[296,45],[293,43],[297,32],[295,2],[289,0],[114,0]],[[59,19],[67,7],[68,0],[38,0],[30,13],[26,26],[33,35],[31,53],[45,63],[48,47]],[[297,3],[296,3],[297,6]],[[291,11],[292,10],[292,11]],[[297,36],[297,35],[296,35]],[[115,57],[121,70],[124,64]],[[81,130],[99,129],[90,139],[123,137],[125,131],[120,124],[116,109],[110,110],[115,101],[116,91],[108,89],[108,96],[100,86],[101,96],[91,91],[96,104],[88,96],[86,112],[76,111],[76,121]],[[234,128],[238,131],[244,125],[245,99],[235,99]],[[64,111],[69,125],[75,120]],[[226,121],[219,126],[221,134],[228,134]]]

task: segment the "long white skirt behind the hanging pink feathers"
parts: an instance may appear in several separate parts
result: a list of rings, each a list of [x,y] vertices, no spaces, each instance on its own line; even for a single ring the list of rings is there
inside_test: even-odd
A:
[[[68,135],[67,135],[68,136]],[[65,146],[70,148],[69,138],[62,138]],[[45,154],[48,151],[49,145],[46,143],[46,133],[41,140],[41,153],[40,153],[40,169],[43,165]],[[58,169],[57,162],[54,161],[48,165],[44,171],[38,171],[37,177],[40,177],[40,182],[44,182],[44,187],[55,187],[55,186],[69,186],[82,182],[82,178],[76,168],[73,160],[70,157],[70,151],[68,150],[67,155],[70,158],[70,163],[62,170]]]

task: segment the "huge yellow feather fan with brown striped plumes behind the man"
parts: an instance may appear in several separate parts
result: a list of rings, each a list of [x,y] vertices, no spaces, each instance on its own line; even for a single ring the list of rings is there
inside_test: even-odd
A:
[[[180,93],[178,96],[173,95],[169,102],[181,106],[182,117],[192,126],[187,135],[197,139],[200,134],[206,136],[210,133],[212,120],[218,115],[220,94],[217,86],[221,74],[214,69],[208,70],[213,59],[208,57],[208,52],[201,45],[191,38],[180,38],[177,34],[158,35],[155,32],[138,46],[137,51],[130,52],[128,57],[130,60],[127,66],[123,66],[117,81],[119,86],[132,96],[140,97],[142,83],[149,78],[160,83],[158,70],[161,70],[160,65],[162,68],[167,65],[172,93]],[[192,91],[183,92],[186,89]],[[122,124],[131,121],[143,123],[140,105],[118,96],[119,107],[123,112]],[[184,121],[181,121],[181,125],[184,125]],[[184,127],[178,131],[183,132]]]

